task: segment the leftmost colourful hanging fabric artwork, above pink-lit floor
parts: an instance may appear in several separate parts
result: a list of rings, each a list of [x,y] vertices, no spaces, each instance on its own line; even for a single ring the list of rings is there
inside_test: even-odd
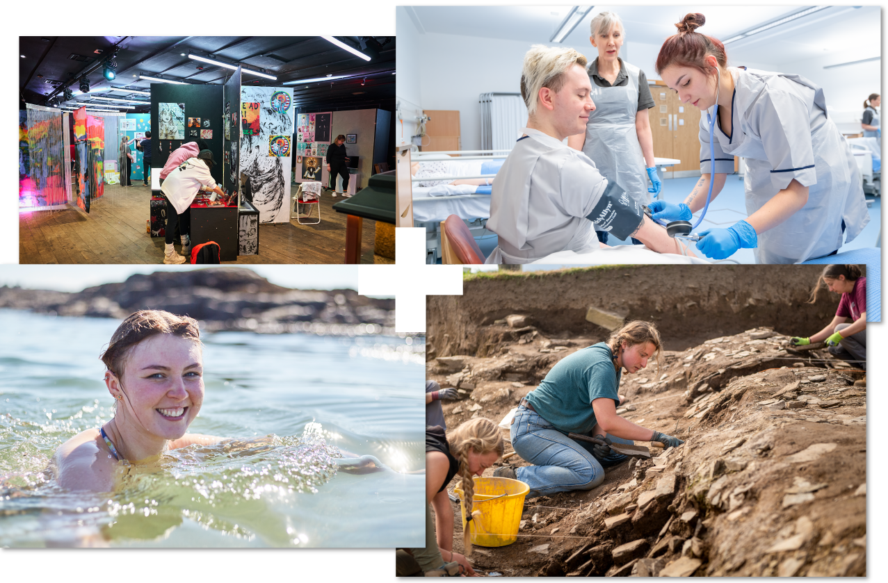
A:
[[[28,109],[28,180],[20,182],[20,209],[51,209],[67,202],[62,115]]]

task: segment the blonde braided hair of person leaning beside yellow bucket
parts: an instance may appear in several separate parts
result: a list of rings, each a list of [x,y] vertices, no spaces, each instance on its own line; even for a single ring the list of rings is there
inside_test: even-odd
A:
[[[450,446],[450,455],[459,461],[459,477],[463,480],[463,507],[466,517],[472,516],[472,520],[479,519],[481,511],[472,512],[475,484],[472,480],[472,470],[469,469],[469,450],[471,449],[480,455],[496,452],[502,457],[505,449],[503,436],[495,422],[484,417],[476,417],[465,421],[456,429],[448,431],[447,441]],[[477,526],[476,523],[476,531]],[[466,523],[463,529],[463,546],[466,556],[472,555],[471,532],[469,524]]]

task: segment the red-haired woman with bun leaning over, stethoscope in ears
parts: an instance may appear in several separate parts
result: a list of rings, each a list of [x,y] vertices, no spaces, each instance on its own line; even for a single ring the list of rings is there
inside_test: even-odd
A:
[[[654,218],[690,220],[702,209],[715,170],[713,198],[733,172],[733,156],[746,159],[749,217],[710,229],[697,243],[703,255],[723,259],[755,248],[760,264],[801,263],[834,254],[869,222],[860,171],[851,149],[827,115],[823,91],[801,75],[727,67],[725,45],[694,32],[706,19],[688,14],[678,34],[663,43],[656,69],[682,103],[707,110],[718,99],[710,155],[707,115],[700,120],[702,177],[685,202],[655,201]],[[713,161],[715,158],[715,166]]]

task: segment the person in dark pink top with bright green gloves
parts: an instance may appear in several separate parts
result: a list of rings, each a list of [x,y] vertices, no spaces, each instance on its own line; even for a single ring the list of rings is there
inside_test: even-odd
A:
[[[811,290],[808,303],[817,301],[821,280],[829,291],[842,294],[836,317],[827,327],[807,338],[793,336],[796,346],[827,341],[829,352],[839,358],[856,361],[863,370],[867,369],[867,278],[863,277],[857,265],[827,265],[817,284]],[[847,323],[851,318],[852,322]]]

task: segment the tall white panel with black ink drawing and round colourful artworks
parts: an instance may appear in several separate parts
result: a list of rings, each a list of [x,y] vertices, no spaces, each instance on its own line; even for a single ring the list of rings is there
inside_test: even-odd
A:
[[[289,156],[292,145],[289,145],[285,155],[269,155],[272,136],[287,138],[289,142],[294,126],[294,107],[278,111],[271,105],[272,96],[281,91],[287,94],[292,104],[293,90],[290,88],[241,88],[239,168],[249,178],[252,202],[259,210],[259,223],[289,221],[289,183],[292,174]],[[280,104],[281,98],[275,101]]]

